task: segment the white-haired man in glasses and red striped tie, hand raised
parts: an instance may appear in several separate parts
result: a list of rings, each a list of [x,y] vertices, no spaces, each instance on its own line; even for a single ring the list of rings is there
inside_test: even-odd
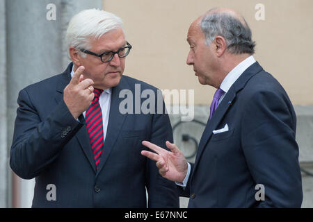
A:
[[[33,207],[179,207],[175,183],[141,155],[143,140],[172,141],[168,115],[119,110],[120,92],[134,93],[136,84],[157,94],[122,75],[131,50],[122,20],[83,10],[66,42],[72,62],[63,74],[29,85],[17,100],[10,167],[35,178]]]

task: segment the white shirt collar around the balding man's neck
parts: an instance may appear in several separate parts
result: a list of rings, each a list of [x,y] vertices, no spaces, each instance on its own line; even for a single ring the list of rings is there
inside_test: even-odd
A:
[[[246,58],[246,60],[243,60],[242,62],[239,63],[232,71],[230,71],[229,74],[224,78],[223,82],[220,84],[220,89],[223,89],[225,94],[230,90],[230,87],[236,82],[236,80],[243,74],[250,65],[255,63],[255,58],[253,56],[249,56]]]

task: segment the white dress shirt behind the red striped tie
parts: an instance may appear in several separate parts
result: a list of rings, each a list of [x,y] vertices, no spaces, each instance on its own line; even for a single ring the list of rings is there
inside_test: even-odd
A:
[[[73,77],[73,75],[74,75],[74,70],[72,69],[71,76]],[[103,134],[104,134],[103,140],[105,141],[106,130],[108,129],[108,123],[109,123],[109,112],[110,112],[112,91],[111,91],[111,88],[103,89],[103,90],[104,91],[99,97],[99,104],[102,110],[102,123],[103,123]],[[85,117],[85,114],[86,114],[86,111],[83,112],[83,117]]]

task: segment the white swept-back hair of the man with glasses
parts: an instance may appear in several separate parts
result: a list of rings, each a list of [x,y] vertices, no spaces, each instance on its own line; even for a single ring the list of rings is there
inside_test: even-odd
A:
[[[65,35],[65,42],[67,46],[67,54],[70,46],[76,49],[90,49],[90,38],[99,39],[113,29],[122,28],[123,22],[120,17],[113,13],[106,12],[99,9],[88,9],[79,12],[72,17]],[[85,57],[86,54],[81,53]],[[69,55],[68,55],[69,56]]]

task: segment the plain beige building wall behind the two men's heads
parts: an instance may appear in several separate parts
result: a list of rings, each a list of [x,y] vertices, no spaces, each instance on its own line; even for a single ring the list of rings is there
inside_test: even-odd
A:
[[[264,6],[264,21],[255,17],[258,3]],[[195,104],[209,105],[215,89],[200,85],[186,65],[186,33],[191,22],[217,6],[241,12],[257,42],[256,60],[280,81],[294,105],[312,105],[312,0],[104,0],[104,10],[123,19],[134,46],[125,74],[160,89],[194,89]]]

